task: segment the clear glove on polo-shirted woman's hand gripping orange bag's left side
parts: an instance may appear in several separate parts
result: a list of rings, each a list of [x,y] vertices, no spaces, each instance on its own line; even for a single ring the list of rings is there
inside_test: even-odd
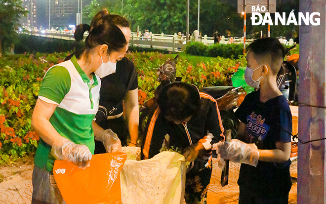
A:
[[[57,160],[72,162],[80,168],[89,166],[92,159],[92,153],[86,145],[75,144],[64,137],[53,143],[51,154]]]

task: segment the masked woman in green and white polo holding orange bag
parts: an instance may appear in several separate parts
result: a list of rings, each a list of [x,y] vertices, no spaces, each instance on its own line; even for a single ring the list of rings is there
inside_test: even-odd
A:
[[[94,153],[94,135],[107,152],[121,150],[121,142],[110,130],[93,122],[98,110],[98,69],[122,57],[125,37],[112,20],[103,17],[85,40],[84,50],[51,67],[43,78],[32,125],[40,136],[33,170],[32,204],[65,204],[53,177],[55,159],[86,167]]]

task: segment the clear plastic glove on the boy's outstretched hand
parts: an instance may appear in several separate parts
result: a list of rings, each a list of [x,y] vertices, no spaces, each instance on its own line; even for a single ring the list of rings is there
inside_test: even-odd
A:
[[[217,146],[218,154],[221,155],[221,158],[236,163],[246,163],[257,166],[259,152],[255,144],[247,144],[238,139],[233,139],[230,143],[219,142]]]

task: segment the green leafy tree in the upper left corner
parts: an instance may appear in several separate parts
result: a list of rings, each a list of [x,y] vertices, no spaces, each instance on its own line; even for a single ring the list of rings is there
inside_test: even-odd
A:
[[[18,20],[27,14],[21,0],[0,0],[0,56],[2,50],[10,47],[17,37]]]

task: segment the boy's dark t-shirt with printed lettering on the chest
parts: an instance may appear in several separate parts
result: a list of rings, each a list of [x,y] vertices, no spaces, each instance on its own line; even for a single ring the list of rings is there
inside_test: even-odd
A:
[[[265,103],[260,91],[249,93],[236,111],[246,124],[246,143],[255,143],[258,149],[276,149],[277,142],[291,142],[292,116],[285,97],[277,96]],[[259,161],[257,167],[241,164],[238,184],[258,195],[287,193],[291,188],[289,166],[285,163]]]

